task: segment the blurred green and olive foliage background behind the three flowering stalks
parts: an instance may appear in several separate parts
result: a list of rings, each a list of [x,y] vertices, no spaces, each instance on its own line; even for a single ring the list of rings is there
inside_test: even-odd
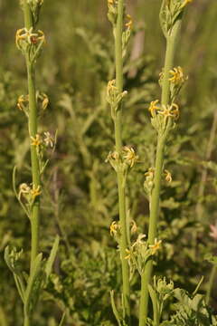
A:
[[[123,138],[139,155],[128,177],[127,205],[140,233],[146,233],[148,222],[144,173],[154,165],[156,149],[146,109],[160,96],[158,75],[165,59],[160,5],[160,0],[127,2],[134,31],[125,62]],[[165,157],[174,181],[162,189],[159,232],[164,250],[156,273],[189,292],[203,274],[201,292],[206,291],[212,265],[203,257],[217,251],[217,237],[210,235],[210,225],[217,221],[216,16],[215,0],[195,0],[184,14],[175,65],[189,79]],[[14,43],[16,30],[24,26],[18,0],[0,0],[0,21],[0,325],[20,326],[22,304],[3,258],[5,245],[24,247],[28,270],[30,225],[12,187],[14,166],[17,187],[31,182],[27,120],[16,107],[18,96],[26,93],[24,58]],[[105,163],[114,149],[105,96],[114,78],[107,2],[44,0],[38,28],[46,35],[46,46],[37,62],[37,89],[50,100],[39,118],[40,131],[58,130],[56,151],[43,177],[41,250],[49,252],[57,233],[61,248],[33,325],[58,325],[62,312],[67,313],[66,325],[115,325],[109,291],[120,292],[121,280],[117,247],[109,236],[110,223],[118,219],[116,177]],[[137,275],[132,283],[136,322]],[[213,289],[215,311],[216,300]]]

